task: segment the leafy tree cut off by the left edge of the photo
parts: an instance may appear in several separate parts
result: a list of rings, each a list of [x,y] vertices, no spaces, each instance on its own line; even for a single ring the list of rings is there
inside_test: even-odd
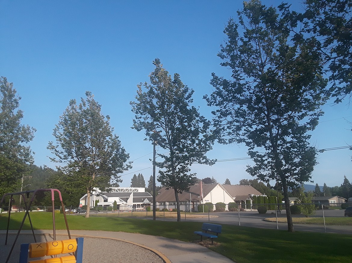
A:
[[[36,129],[21,124],[21,97],[16,93],[13,83],[0,77],[0,196],[19,189],[21,177],[30,172],[33,163],[33,152],[26,144],[33,140]]]

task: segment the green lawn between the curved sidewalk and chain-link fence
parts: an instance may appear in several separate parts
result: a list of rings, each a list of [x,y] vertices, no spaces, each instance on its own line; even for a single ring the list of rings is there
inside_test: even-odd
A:
[[[7,214],[0,215],[0,229],[6,229]],[[24,213],[12,213],[10,229],[18,229]],[[51,213],[31,213],[35,229],[52,229]],[[193,231],[201,222],[168,222],[112,216],[67,216],[72,230],[104,230],[158,235],[186,242],[197,242]],[[65,229],[62,214],[55,215],[56,229]],[[23,229],[30,229],[26,220]],[[222,224],[217,245],[209,248],[237,263],[340,263],[352,262],[352,236],[314,232],[239,227]]]

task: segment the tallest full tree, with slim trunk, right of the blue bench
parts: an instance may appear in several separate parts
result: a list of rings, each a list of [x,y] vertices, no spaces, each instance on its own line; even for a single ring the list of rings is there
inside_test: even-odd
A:
[[[320,55],[308,41],[290,36],[295,23],[259,0],[244,2],[238,19],[241,31],[230,19],[224,31],[228,41],[218,54],[221,65],[232,69],[232,80],[213,73],[215,90],[205,99],[216,107],[219,142],[245,143],[254,161],[246,171],[281,184],[288,231],[293,232],[288,188],[311,179],[316,149],[309,145],[308,132],[318,124],[326,101]]]

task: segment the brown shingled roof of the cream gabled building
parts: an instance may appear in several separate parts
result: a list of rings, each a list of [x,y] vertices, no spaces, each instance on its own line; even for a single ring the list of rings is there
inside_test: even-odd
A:
[[[211,184],[202,184],[203,187],[203,196],[209,194],[219,183],[211,183]],[[230,184],[221,184],[221,186],[233,197],[235,200],[238,199],[239,196],[244,198],[244,196],[249,195],[262,195],[259,191],[254,189],[252,186],[242,186],[239,184],[230,185]],[[156,202],[176,202],[175,191],[173,188],[166,190],[166,187],[163,187],[159,190],[159,193],[155,200]],[[182,194],[178,194],[178,199],[182,201],[189,201],[191,198],[192,201],[199,201],[200,195],[200,184],[194,184],[190,187],[189,191],[183,191]],[[246,200],[242,199],[242,200]]]

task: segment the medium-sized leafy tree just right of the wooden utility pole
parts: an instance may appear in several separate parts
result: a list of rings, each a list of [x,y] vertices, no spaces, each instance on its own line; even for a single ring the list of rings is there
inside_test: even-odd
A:
[[[140,83],[136,101],[130,102],[136,115],[133,129],[145,130],[146,140],[156,141],[168,153],[159,154],[156,162],[158,181],[173,188],[177,204],[177,221],[181,220],[178,193],[188,190],[196,181],[188,174],[194,162],[208,163],[206,153],[212,149],[210,122],[194,106],[194,90],[185,86],[179,74],[171,78],[159,59],[153,61],[155,70],[150,74],[150,84]]]

